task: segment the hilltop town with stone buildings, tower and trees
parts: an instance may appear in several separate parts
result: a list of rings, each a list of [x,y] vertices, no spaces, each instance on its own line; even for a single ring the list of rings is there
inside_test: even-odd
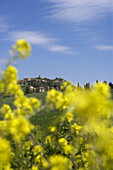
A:
[[[55,79],[49,79],[49,78],[42,78],[41,75],[39,75],[36,78],[24,78],[23,80],[18,80],[18,84],[20,84],[24,91],[30,91],[30,92],[46,92],[50,89],[56,89],[60,90],[61,84],[66,81],[63,78],[55,78]]]

